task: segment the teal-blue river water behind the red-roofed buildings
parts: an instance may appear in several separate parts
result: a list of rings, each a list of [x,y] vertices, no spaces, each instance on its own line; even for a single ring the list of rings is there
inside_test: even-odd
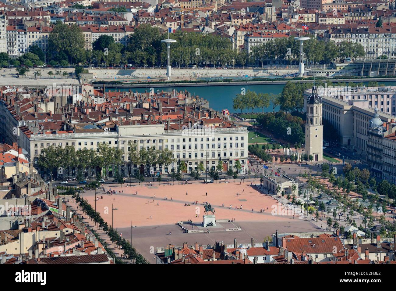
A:
[[[341,82],[343,80],[340,80]],[[355,82],[358,82],[356,80]],[[348,81],[346,80],[346,83]],[[367,82],[364,82],[367,84]],[[396,86],[396,81],[388,81],[386,82],[385,80],[379,81],[379,83],[384,83],[387,86]],[[180,84],[181,85],[181,84]],[[247,90],[255,91],[257,93],[273,93],[273,94],[279,94],[282,92],[282,89],[284,87],[284,84],[261,84],[261,85],[235,85],[235,86],[188,86],[188,87],[183,87],[183,86],[174,86],[174,87],[156,87],[154,88],[154,92],[157,92],[157,90],[164,90],[165,92],[171,92],[173,89],[176,89],[178,91],[181,90],[187,90],[188,92],[191,92],[191,96],[193,95],[198,95],[199,97],[203,97],[204,99],[209,101],[210,107],[212,107],[215,110],[223,110],[223,109],[228,109],[230,112],[240,112],[240,111],[235,111],[232,109],[232,100],[236,96],[236,94],[240,94],[242,91],[242,88],[245,88]],[[150,89],[149,88],[106,88],[106,91],[118,91],[120,90],[121,92],[123,91],[128,91],[132,90],[133,92],[148,92]],[[277,111],[278,108],[275,108],[275,111]],[[254,110],[254,112],[261,112],[261,108],[257,108]],[[272,111],[272,105],[270,105],[268,108],[264,109],[265,112],[270,112]],[[244,110],[246,112],[246,109]],[[251,112],[251,109],[248,109],[248,112]]]

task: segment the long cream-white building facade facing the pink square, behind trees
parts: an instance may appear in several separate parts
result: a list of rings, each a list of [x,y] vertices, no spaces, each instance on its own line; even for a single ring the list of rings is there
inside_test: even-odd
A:
[[[244,170],[247,167],[247,133],[246,127],[211,128],[200,131],[168,129],[164,124],[125,125],[117,126],[114,131],[107,129],[89,133],[37,132],[30,134],[29,149],[31,161],[34,161],[42,149],[51,145],[72,145],[76,151],[80,151],[84,148],[97,150],[99,144],[109,144],[122,150],[124,164],[120,170],[125,176],[129,173],[130,143],[137,144],[138,151],[153,146],[158,150],[170,149],[176,161],[164,169],[165,173],[177,170],[179,163],[186,163],[188,172],[197,168],[198,163],[206,163],[206,168],[210,171],[217,166],[219,160],[223,163],[223,171],[227,171],[229,165],[234,165],[236,160],[240,161]],[[142,174],[148,172],[147,165],[135,165],[132,173],[138,169]]]

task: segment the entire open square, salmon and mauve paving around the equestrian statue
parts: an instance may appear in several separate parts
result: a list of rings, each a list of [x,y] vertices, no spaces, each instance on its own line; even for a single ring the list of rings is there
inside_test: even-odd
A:
[[[278,200],[255,187],[252,188],[251,182],[234,183],[231,180],[228,183],[223,181],[213,184],[204,184],[201,181],[198,181],[198,184],[191,183],[181,185],[176,183],[171,186],[165,182],[160,184],[155,182],[154,186],[133,184],[132,187],[125,184],[122,187],[107,185],[105,190],[111,189],[118,193],[110,195],[99,191],[96,208],[109,224],[112,223],[112,214],[114,215],[114,227],[118,228],[118,232],[121,232],[126,239],[131,235],[131,223],[136,226],[132,229],[132,244],[149,261],[153,259],[153,249],[156,250],[157,247],[164,247],[169,243],[179,246],[184,242],[193,244],[198,241],[205,245],[213,244],[215,241],[231,243],[234,238],[242,243],[249,242],[251,237],[255,241],[262,242],[267,235],[272,235],[276,230],[280,233],[319,230],[309,220],[299,219],[298,214],[293,218],[292,212],[288,213],[289,215],[272,215],[272,207],[274,205],[278,207]],[[87,191],[82,196],[95,207],[94,191]],[[192,204],[193,201],[198,201],[198,204]],[[241,230],[192,234],[183,232],[177,222],[188,220],[201,222],[205,214],[202,205],[204,201],[208,201],[215,209],[217,220],[235,219],[234,224]],[[185,206],[186,203],[190,206]],[[113,212],[112,207],[116,209]],[[264,209],[264,212],[260,212],[261,209]]]

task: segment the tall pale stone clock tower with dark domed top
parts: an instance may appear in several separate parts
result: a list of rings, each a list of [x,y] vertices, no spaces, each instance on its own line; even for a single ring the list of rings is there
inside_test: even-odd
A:
[[[313,161],[323,160],[323,124],[322,97],[318,88],[312,87],[312,94],[307,98],[307,123],[305,124],[305,153],[312,155]]]

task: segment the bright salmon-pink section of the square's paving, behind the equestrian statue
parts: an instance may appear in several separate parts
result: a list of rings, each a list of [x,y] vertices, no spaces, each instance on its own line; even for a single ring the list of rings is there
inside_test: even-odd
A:
[[[230,181],[213,184],[198,181],[198,184],[190,182],[192,184],[173,186],[163,182],[160,185],[155,182],[154,186],[109,185],[105,186],[106,190],[118,193],[98,194],[97,197],[103,196],[103,199],[96,201],[96,209],[105,221],[111,224],[111,208],[117,208],[114,210],[114,227],[118,228],[129,226],[131,221],[136,226],[175,224],[189,219],[202,221],[204,201],[208,201],[215,208],[217,219],[235,218],[238,222],[293,219],[293,215],[272,216],[271,207],[278,205],[278,201],[250,187],[250,182],[240,184],[239,181]],[[88,199],[92,206],[95,205],[93,191],[83,194],[83,197]],[[198,204],[194,205],[194,201]],[[185,206],[186,203],[189,206]],[[265,211],[261,213],[260,209]]]

